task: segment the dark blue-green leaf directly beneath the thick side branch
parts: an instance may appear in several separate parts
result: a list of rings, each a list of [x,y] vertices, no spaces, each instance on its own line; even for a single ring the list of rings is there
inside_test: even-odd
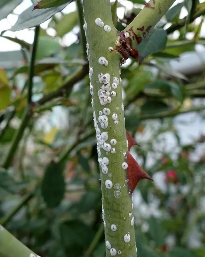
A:
[[[141,56],[147,56],[163,50],[167,44],[167,32],[164,29],[152,29],[138,46]]]

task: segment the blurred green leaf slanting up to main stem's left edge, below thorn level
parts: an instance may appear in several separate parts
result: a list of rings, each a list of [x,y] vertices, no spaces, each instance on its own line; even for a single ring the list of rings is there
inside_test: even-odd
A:
[[[94,191],[86,191],[78,202],[73,203],[69,207],[68,212],[72,215],[81,215],[82,213],[94,210],[96,209],[97,204],[100,202],[100,199],[101,196],[99,193]]]

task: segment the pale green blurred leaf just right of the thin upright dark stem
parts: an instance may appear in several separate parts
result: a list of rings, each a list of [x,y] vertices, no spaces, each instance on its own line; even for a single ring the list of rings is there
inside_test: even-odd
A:
[[[49,46],[49,47],[48,47]],[[61,49],[60,44],[51,36],[40,36],[38,41],[36,59],[51,56]]]

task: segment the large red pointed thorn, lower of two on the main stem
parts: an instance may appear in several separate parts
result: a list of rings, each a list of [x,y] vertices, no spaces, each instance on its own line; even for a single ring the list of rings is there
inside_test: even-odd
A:
[[[151,181],[154,181],[143,169],[139,166],[139,164],[135,161],[132,155],[127,152],[126,153],[126,162],[128,164],[127,167],[127,178],[128,178],[128,188],[130,190],[130,194],[133,193],[135,187],[137,186],[138,182],[143,179],[147,178]]]

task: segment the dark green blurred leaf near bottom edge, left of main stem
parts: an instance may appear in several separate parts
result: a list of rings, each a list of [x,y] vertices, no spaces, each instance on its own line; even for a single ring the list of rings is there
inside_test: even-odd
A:
[[[66,248],[69,247],[87,247],[94,233],[82,221],[66,221],[59,225],[59,232],[62,245]]]

